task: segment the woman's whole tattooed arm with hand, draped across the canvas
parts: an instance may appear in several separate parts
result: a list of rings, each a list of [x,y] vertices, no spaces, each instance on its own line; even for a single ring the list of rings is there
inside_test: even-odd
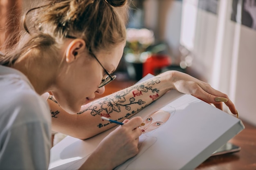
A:
[[[213,103],[220,109],[222,109],[222,102],[216,102],[215,98],[225,97],[228,99],[225,104],[229,106],[232,113],[236,114],[236,108],[227,95],[185,73],[167,71],[145,82],[86,104],[81,107],[79,113],[74,115],[65,112],[53,98],[48,99],[52,114],[52,130],[79,139],[87,139],[116,125],[103,121],[101,116],[124,121],[171,89],[191,94],[205,102]]]

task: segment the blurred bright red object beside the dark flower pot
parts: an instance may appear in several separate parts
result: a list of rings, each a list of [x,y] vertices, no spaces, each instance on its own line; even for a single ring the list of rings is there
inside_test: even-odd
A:
[[[171,57],[164,54],[153,54],[143,63],[142,77],[148,73],[155,75],[156,71],[171,65]]]

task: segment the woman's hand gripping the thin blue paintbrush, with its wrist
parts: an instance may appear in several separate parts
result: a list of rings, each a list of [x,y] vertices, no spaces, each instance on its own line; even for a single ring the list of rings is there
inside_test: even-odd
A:
[[[124,125],[120,125],[105,137],[81,168],[113,169],[137,155],[139,136],[142,133],[138,127],[142,121],[141,117],[124,120]]]

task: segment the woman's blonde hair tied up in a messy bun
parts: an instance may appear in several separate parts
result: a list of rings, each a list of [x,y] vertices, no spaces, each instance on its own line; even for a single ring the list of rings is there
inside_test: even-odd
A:
[[[128,0],[48,0],[25,13],[25,31],[16,48],[0,54],[0,64],[13,65],[31,49],[41,56],[56,53],[63,38],[81,38],[91,51],[109,49],[126,40]],[[27,27],[26,21],[30,16]],[[29,33],[29,36],[27,36]]]

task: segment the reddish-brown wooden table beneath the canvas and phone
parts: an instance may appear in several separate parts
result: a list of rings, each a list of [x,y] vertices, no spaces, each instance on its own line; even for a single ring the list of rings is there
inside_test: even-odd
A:
[[[109,95],[133,84],[135,81],[114,80],[105,87],[104,95]],[[97,97],[102,97],[102,95],[97,95]],[[210,157],[195,170],[256,170],[256,127],[246,121],[243,123],[245,129],[229,141],[240,146],[240,152]]]

